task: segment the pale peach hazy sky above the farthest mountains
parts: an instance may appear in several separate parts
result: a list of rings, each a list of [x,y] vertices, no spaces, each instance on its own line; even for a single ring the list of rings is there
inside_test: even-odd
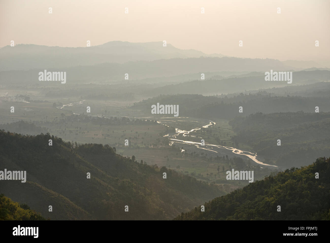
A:
[[[207,54],[323,61],[330,59],[329,13],[329,0],[1,0],[0,47],[166,40]]]

